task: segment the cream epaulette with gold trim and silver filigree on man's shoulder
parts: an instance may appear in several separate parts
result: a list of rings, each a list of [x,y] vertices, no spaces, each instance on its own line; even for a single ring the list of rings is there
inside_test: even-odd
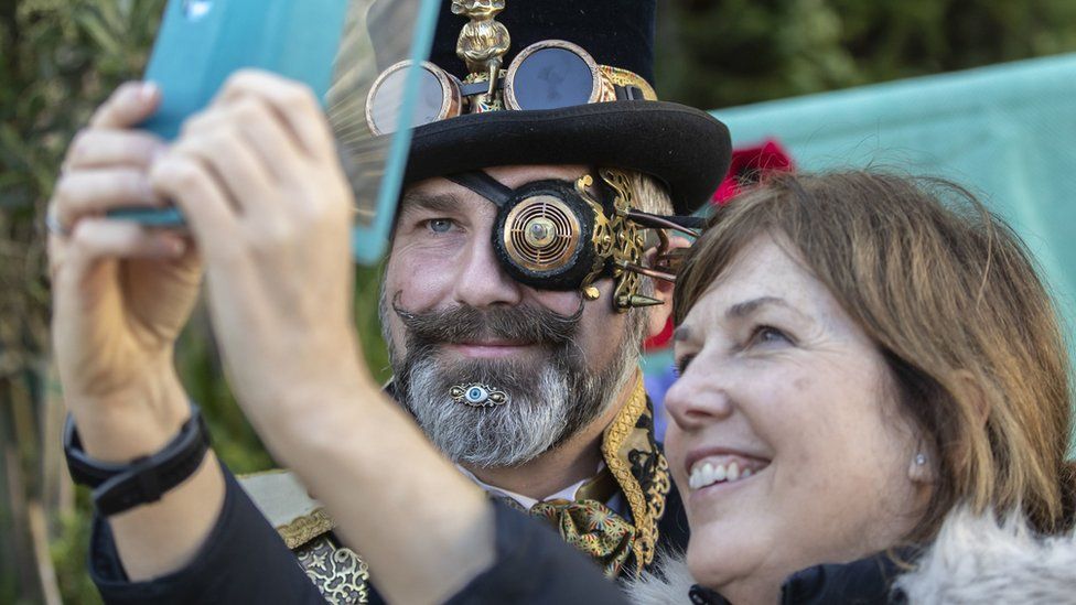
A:
[[[268,471],[238,479],[325,601],[337,605],[368,602],[369,568],[336,540],[335,521],[294,474]]]

